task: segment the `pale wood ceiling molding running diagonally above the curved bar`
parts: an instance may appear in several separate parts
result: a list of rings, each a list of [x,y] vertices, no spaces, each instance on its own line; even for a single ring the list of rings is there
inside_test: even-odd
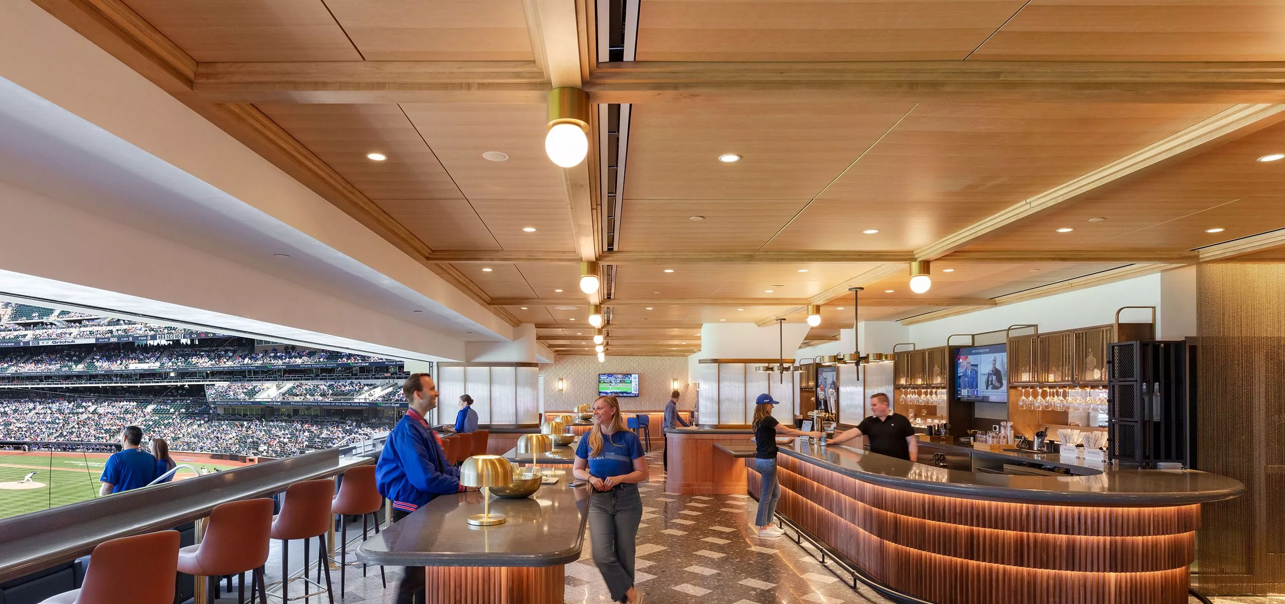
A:
[[[978,237],[1031,218],[1064,201],[1079,199],[1096,189],[1112,185],[1126,177],[1136,176],[1146,169],[1187,156],[1205,145],[1227,142],[1228,140],[1266,128],[1285,119],[1285,113],[1282,112],[1285,112],[1285,104],[1232,105],[1213,117],[1183,128],[1181,132],[1153,142],[1079,178],[1022,200],[968,228],[925,245],[915,250],[915,255],[923,260],[941,258],[964,247]]]

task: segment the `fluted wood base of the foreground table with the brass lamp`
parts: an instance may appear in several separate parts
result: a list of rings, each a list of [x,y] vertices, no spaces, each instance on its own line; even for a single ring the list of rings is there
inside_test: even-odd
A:
[[[562,604],[565,568],[427,567],[425,604]]]

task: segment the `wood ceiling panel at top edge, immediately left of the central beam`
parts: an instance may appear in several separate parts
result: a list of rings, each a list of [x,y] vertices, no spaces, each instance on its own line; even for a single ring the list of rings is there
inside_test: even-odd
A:
[[[533,60],[520,0],[326,0],[366,60]]]

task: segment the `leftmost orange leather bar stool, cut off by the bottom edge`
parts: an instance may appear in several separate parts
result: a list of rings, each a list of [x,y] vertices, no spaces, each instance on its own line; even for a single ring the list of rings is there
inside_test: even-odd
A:
[[[94,548],[81,589],[41,604],[171,604],[179,531],[103,541]]]

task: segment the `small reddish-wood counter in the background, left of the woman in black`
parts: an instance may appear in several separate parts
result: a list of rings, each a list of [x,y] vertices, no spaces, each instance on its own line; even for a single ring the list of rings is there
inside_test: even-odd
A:
[[[669,428],[664,431],[669,448],[669,471],[664,474],[666,492],[680,495],[743,494],[745,464],[729,455],[714,454],[714,445],[749,445],[749,427]]]

